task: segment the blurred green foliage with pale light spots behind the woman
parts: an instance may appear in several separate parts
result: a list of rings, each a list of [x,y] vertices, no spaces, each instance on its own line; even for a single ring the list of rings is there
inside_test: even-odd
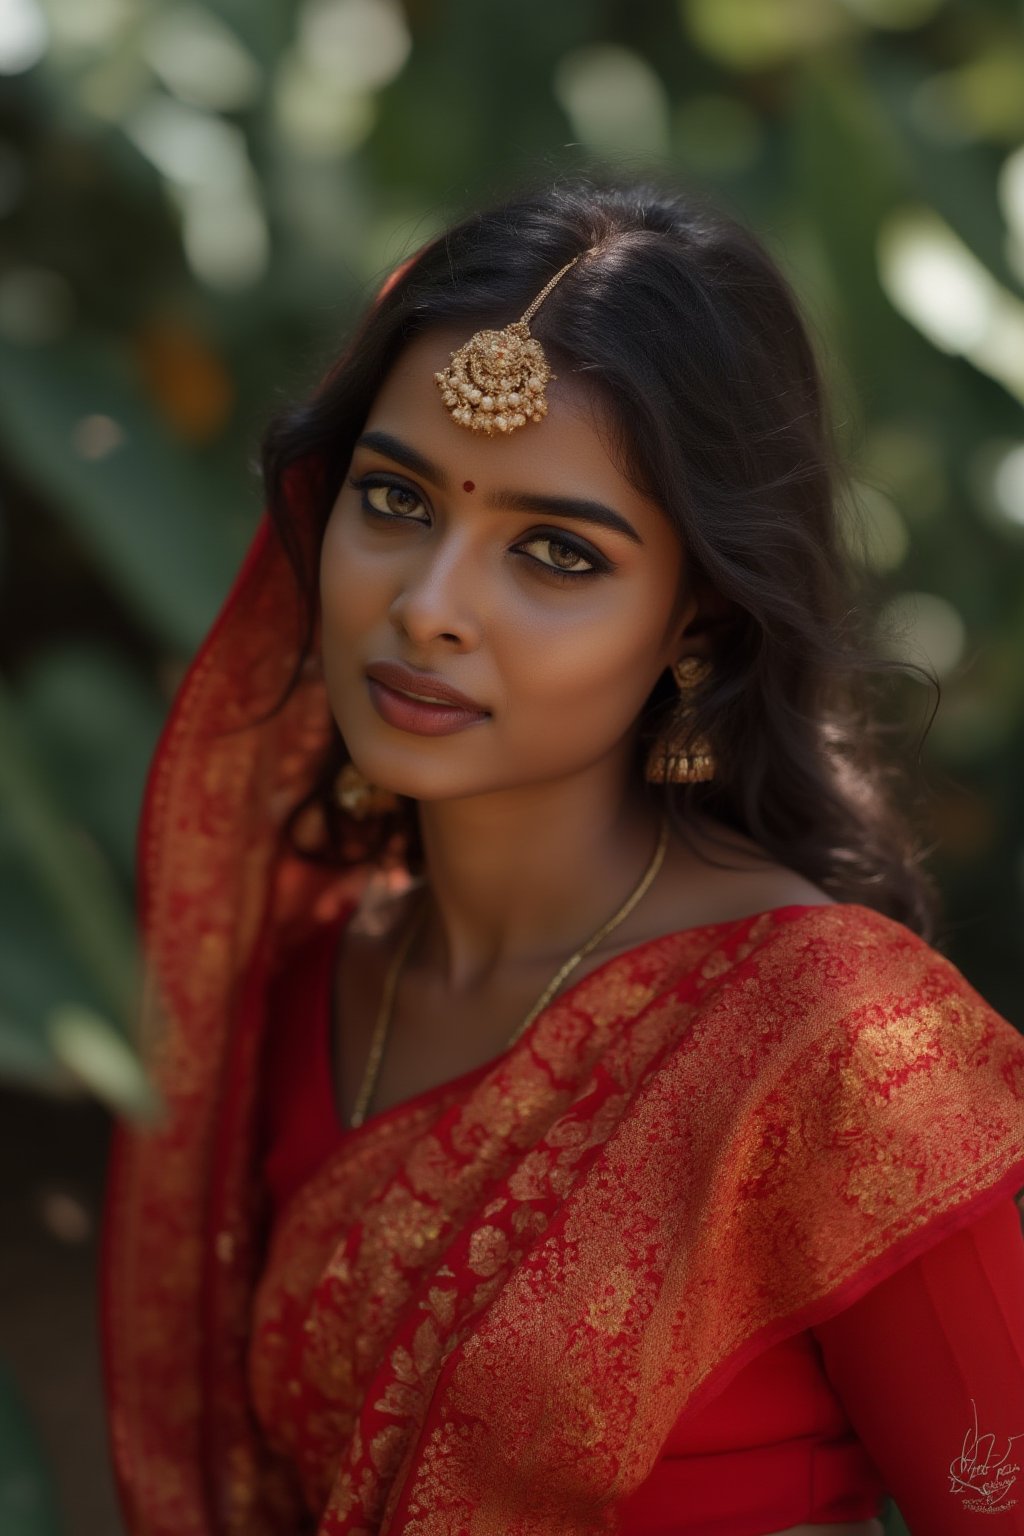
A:
[[[1019,0],[0,0],[0,1080],[144,1111],[135,822],[261,424],[438,227],[594,157],[803,298],[858,558],[943,685],[943,946],[1024,1023]]]

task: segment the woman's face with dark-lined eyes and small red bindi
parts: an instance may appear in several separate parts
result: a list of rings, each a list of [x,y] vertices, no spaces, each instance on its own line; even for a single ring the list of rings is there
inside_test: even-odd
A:
[[[616,468],[573,378],[548,384],[547,418],[510,436],[451,421],[433,376],[465,339],[410,343],[335,501],[319,571],[335,720],[373,783],[418,800],[602,763],[625,782],[639,711],[697,608],[674,613],[679,536]],[[390,723],[365,676],[381,660],[433,673],[487,717],[448,736]]]

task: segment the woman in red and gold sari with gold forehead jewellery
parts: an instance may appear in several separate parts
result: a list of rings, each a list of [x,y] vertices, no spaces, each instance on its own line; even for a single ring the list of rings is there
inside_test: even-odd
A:
[[[264,478],[140,836],[129,1531],[1024,1531],[1024,1043],[929,942],[766,252],[468,218]]]

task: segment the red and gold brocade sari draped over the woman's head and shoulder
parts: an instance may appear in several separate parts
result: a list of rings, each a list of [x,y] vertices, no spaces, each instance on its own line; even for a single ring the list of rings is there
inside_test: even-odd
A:
[[[306,484],[295,472],[299,518]],[[329,1448],[310,1510],[246,1369],[267,1244],[267,980],[353,889],[281,834],[330,734],[318,671],[253,723],[292,674],[295,621],[264,521],[146,790],[141,1038],[167,1112],[115,1132],[101,1276],[127,1530],[614,1531],[680,1413],[1024,1184],[1024,1041],[863,906],[613,958],[378,1190],[393,1273],[362,1379],[330,1352],[370,1295],[327,1263],[310,1347]],[[324,1189],[319,1240],[335,1221],[341,1246]]]

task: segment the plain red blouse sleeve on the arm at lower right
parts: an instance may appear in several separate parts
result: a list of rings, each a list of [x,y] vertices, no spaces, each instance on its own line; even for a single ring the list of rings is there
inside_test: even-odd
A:
[[[1024,1236],[1013,1200],[811,1332],[912,1536],[1024,1536]]]

